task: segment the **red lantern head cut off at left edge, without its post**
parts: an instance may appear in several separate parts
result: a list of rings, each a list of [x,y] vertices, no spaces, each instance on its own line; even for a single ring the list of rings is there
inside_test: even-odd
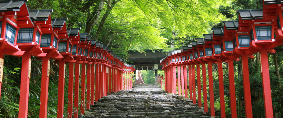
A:
[[[6,40],[9,45],[5,49],[20,50],[16,47],[18,30],[34,26],[29,18],[29,11],[25,2],[26,0],[0,1],[0,6],[2,6],[0,10],[0,42]]]

